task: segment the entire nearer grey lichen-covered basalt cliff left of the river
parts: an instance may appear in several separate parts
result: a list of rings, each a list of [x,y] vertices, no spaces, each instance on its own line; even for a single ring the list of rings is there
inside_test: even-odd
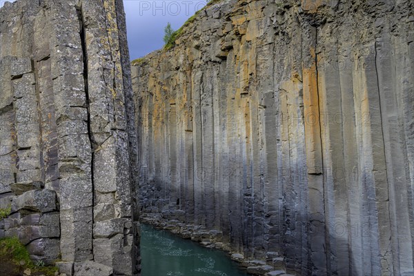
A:
[[[124,17],[120,0],[0,9],[0,236],[68,275],[139,268]]]

